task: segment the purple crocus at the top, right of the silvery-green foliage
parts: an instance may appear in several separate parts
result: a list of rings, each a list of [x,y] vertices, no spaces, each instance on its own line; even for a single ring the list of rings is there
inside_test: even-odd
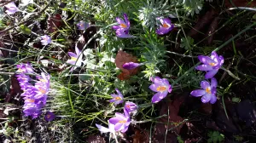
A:
[[[174,25],[172,24],[172,21],[169,18],[164,19],[158,19],[160,20],[160,27],[156,30],[156,33],[158,35],[164,35],[168,33],[169,31],[172,31]]]

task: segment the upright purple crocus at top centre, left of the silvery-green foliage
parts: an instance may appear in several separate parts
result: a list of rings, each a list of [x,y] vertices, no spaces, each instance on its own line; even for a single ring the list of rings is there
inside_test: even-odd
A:
[[[112,28],[115,30],[116,36],[121,38],[134,37],[129,34],[130,21],[128,20],[127,14],[124,14],[124,18],[125,20],[122,20],[117,17],[116,21],[119,23],[119,26],[112,26]]]

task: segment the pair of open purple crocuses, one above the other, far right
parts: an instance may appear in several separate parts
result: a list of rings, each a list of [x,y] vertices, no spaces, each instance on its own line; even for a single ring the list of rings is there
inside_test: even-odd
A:
[[[217,80],[214,78],[215,74],[218,72],[218,69],[224,64],[224,57],[218,56],[215,51],[212,51],[211,56],[199,55],[198,59],[203,63],[200,66],[196,66],[196,70],[206,71],[206,79],[211,78],[211,84],[207,81],[201,81],[201,89],[196,89],[190,94],[195,97],[202,96],[201,101],[207,103],[210,101],[211,104],[214,104],[217,100]]]

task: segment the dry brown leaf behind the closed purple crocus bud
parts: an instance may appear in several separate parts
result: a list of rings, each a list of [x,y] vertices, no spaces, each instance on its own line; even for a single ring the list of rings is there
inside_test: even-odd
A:
[[[138,62],[138,61],[135,56],[131,54],[127,54],[122,50],[119,50],[118,54],[116,54],[114,62],[115,62],[115,65],[122,71],[122,73],[120,73],[118,76],[120,80],[127,80],[132,75],[135,75],[138,71],[138,68],[135,68],[132,70],[126,70],[123,68],[123,65],[127,62]]]

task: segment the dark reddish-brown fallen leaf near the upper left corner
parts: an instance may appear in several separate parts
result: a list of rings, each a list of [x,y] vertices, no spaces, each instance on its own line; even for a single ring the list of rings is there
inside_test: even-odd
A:
[[[47,20],[47,30],[50,33],[57,31],[61,26],[61,14],[55,14],[54,16],[49,17]]]

